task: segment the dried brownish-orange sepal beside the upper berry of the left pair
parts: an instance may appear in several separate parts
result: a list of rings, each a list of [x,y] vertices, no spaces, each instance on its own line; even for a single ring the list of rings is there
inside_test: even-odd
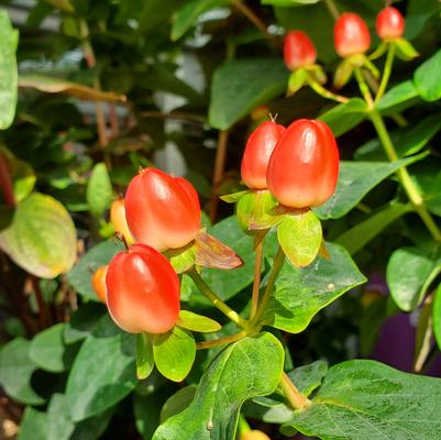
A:
[[[195,240],[196,264],[205,267],[236,268],[243,260],[229,246],[205,231]]]

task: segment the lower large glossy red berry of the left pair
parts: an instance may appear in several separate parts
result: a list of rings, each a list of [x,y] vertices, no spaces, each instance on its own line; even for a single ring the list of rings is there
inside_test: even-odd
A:
[[[107,306],[129,333],[164,333],[179,315],[179,279],[168,260],[145,244],[118,253],[106,276]]]

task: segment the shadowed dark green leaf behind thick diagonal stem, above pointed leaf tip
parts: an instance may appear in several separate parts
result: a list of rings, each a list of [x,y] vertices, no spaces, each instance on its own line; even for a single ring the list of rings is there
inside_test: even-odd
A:
[[[390,131],[389,135],[398,157],[405,157],[420,152],[440,130],[441,113],[434,113],[412,127]],[[385,161],[387,156],[379,140],[373,139],[357,148],[355,158]]]

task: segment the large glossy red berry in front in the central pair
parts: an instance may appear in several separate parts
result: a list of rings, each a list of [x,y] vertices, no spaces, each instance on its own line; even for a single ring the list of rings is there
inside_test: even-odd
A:
[[[287,207],[324,204],[335,189],[339,150],[329,127],[321,121],[293,122],[269,160],[268,188]]]

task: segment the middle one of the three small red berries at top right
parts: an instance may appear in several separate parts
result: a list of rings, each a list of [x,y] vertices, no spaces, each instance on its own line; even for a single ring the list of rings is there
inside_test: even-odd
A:
[[[365,21],[355,13],[339,16],[334,26],[335,52],[343,58],[365,53],[371,45],[371,34]]]

